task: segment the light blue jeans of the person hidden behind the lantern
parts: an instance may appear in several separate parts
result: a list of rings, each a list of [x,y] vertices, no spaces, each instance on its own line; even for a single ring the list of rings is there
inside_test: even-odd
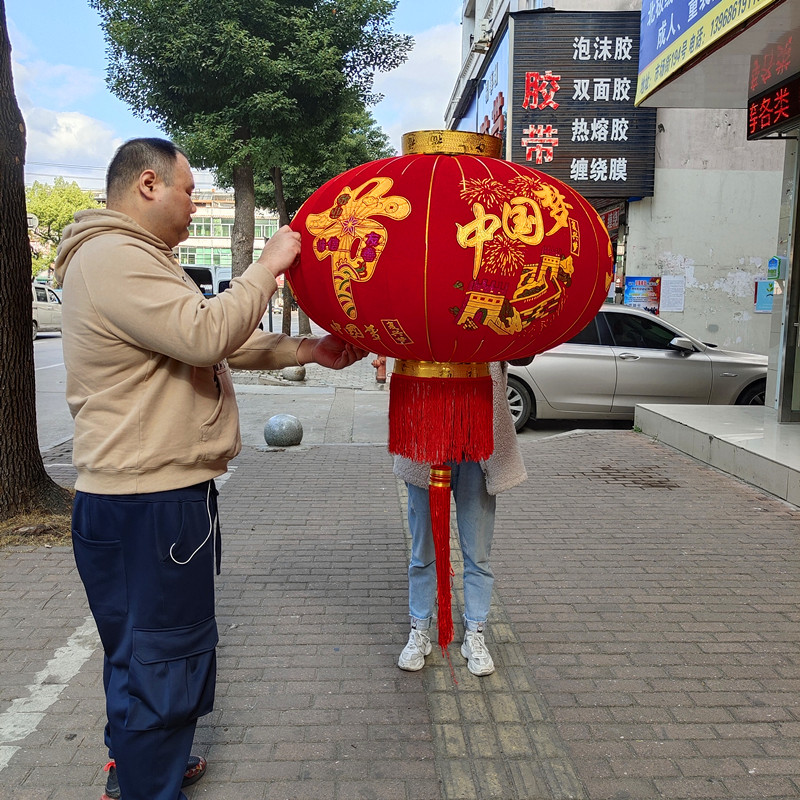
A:
[[[481,465],[451,464],[450,484],[456,505],[458,538],[464,558],[464,625],[483,630],[489,616],[494,574],[489,565],[494,535],[496,498],[486,491]],[[436,554],[431,532],[428,490],[408,487],[411,562],[408,565],[408,609],[412,624],[430,627],[436,606]]]

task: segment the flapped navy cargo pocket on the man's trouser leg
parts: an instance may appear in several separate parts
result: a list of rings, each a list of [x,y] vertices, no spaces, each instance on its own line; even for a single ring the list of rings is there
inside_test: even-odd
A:
[[[218,640],[214,617],[182,628],[134,628],[126,727],[178,728],[208,714],[214,706]]]

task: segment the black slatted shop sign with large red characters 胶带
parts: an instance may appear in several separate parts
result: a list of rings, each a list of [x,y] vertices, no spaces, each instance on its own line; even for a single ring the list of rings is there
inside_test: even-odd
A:
[[[633,104],[639,15],[511,16],[511,160],[586,197],[651,197],[655,110]]]

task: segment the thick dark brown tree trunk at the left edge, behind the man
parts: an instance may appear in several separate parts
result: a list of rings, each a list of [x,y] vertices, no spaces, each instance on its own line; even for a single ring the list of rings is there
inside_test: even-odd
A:
[[[36,431],[24,165],[25,124],[0,0],[0,519],[37,510],[67,513],[71,502],[45,471]]]

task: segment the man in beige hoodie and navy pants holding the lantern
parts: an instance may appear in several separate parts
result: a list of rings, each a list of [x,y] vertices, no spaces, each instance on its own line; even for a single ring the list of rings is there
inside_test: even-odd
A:
[[[189,235],[194,179],[163,139],[114,155],[107,208],[81,211],[58,247],[67,401],[75,419],[73,545],[103,643],[105,797],[185,800],[216,680],[214,478],[241,449],[229,365],[334,369],[365,351],[335,336],[257,330],[300,252],[281,228],[206,298],[173,249]]]

